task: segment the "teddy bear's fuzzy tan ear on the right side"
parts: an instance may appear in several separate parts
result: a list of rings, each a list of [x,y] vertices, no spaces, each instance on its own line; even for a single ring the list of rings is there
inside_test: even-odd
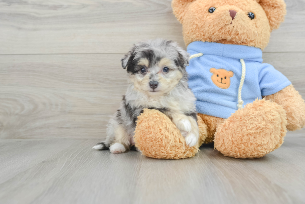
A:
[[[278,29],[286,15],[286,4],[283,0],[256,0],[264,9],[269,20],[271,31]]]

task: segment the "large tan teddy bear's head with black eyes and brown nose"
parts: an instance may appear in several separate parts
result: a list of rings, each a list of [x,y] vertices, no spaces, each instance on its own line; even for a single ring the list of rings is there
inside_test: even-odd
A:
[[[286,14],[283,0],[173,0],[172,8],[186,45],[208,41],[262,50]]]

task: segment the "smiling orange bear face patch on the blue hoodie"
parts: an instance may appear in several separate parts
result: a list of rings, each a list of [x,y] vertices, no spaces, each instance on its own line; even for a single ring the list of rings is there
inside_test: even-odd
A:
[[[211,68],[210,72],[213,73],[211,76],[212,82],[219,88],[229,88],[231,84],[230,77],[234,75],[232,71],[227,71],[225,69],[215,69]]]

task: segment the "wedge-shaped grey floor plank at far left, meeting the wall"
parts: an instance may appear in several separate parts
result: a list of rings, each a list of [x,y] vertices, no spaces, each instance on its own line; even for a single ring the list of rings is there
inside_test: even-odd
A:
[[[0,183],[84,140],[0,140]]]

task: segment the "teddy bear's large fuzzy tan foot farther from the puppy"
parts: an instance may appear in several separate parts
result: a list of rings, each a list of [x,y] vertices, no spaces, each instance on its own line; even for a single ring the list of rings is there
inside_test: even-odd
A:
[[[214,148],[230,157],[259,158],[282,145],[286,125],[281,105],[257,99],[218,126]]]

